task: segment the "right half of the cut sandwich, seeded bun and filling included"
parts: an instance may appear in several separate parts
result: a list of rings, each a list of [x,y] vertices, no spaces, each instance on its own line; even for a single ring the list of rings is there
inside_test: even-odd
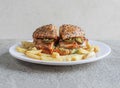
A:
[[[74,53],[77,48],[83,47],[85,32],[78,26],[71,24],[64,24],[59,28],[60,40],[55,51],[60,55],[67,55]]]

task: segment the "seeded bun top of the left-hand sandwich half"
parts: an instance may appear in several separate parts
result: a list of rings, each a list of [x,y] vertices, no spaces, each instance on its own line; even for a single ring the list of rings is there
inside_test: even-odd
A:
[[[52,38],[57,39],[57,28],[52,24],[37,28],[33,33],[33,38]]]

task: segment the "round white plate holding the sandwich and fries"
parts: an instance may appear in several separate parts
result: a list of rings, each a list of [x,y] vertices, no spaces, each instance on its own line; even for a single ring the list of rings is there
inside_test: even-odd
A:
[[[89,42],[91,45],[99,46],[100,51],[97,53],[96,57],[80,60],[80,61],[56,62],[56,61],[43,61],[43,60],[32,59],[16,51],[16,46],[19,46],[21,43],[17,43],[11,46],[9,49],[9,53],[16,59],[26,61],[26,62],[31,62],[31,63],[44,64],[44,65],[76,65],[76,64],[90,63],[90,62],[103,59],[104,57],[110,54],[111,48],[108,45],[102,42],[93,41],[93,40],[89,40]]]

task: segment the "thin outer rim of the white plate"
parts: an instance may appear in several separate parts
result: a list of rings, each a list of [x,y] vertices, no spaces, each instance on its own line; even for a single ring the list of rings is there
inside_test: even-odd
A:
[[[26,40],[26,41],[32,41],[32,40]],[[100,42],[100,41],[95,41],[95,40],[89,40],[89,41],[101,43],[102,45],[104,45],[108,49],[109,52],[107,52],[106,54],[104,54],[102,56],[99,56],[97,58],[93,57],[93,58],[90,58],[90,59],[79,60],[79,61],[64,61],[64,62],[44,61],[44,60],[32,59],[32,58],[29,58],[29,57],[26,57],[26,56],[21,58],[21,56],[14,55],[14,53],[12,51],[17,52],[14,49],[15,49],[16,46],[18,46],[21,43],[21,42],[18,42],[18,43],[15,43],[14,45],[12,45],[9,48],[9,53],[10,53],[10,55],[12,55],[16,59],[19,59],[19,60],[22,60],[22,61],[26,61],[26,62],[30,62],[30,63],[44,64],[44,65],[77,65],[77,64],[83,64],[83,63],[91,63],[91,62],[95,62],[95,61],[98,61],[100,59],[103,59],[104,57],[108,56],[111,53],[111,48],[106,43],[103,43],[103,42]],[[19,52],[17,52],[17,53],[19,53]]]

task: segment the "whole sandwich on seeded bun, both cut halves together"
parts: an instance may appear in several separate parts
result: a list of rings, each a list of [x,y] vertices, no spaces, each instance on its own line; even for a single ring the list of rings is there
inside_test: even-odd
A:
[[[53,52],[58,52],[60,55],[72,54],[83,47],[86,40],[85,32],[80,27],[71,24],[60,26],[59,37],[56,26],[52,24],[39,27],[33,33],[35,47],[46,54]]]

